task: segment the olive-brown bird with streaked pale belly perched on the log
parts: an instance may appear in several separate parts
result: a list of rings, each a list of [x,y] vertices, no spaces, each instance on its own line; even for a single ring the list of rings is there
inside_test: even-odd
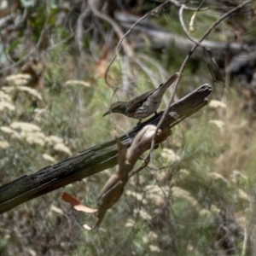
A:
[[[140,125],[142,119],[147,118],[152,113],[157,114],[162,97],[167,88],[177,79],[178,75],[179,73],[174,73],[165,84],[160,84],[158,88],[149,90],[130,102],[113,102],[108,111],[102,116],[104,117],[109,113],[122,113],[127,117],[139,119],[137,125]]]

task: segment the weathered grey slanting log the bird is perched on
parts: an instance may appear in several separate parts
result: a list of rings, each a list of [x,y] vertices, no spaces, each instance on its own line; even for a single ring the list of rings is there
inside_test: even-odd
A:
[[[166,119],[160,126],[161,131],[169,131],[174,125],[207,105],[206,97],[211,92],[211,85],[203,84],[189,95],[172,104]],[[129,147],[138,131],[148,124],[157,125],[162,114],[163,111],[145,121],[140,127],[127,131],[128,136],[124,134],[119,137],[119,140]],[[7,212],[23,202],[115,166],[117,164],[117,152],[116,140],[113,139],[88,148],[73,158],[61,161],[53,166],[46,166],[38,172],[4,184],[0,187],[0,213]]]

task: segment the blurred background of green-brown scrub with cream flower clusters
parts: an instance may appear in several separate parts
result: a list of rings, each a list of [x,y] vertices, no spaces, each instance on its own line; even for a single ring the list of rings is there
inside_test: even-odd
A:
[[[185,25],[200,38],[242,2],[206,0],[202,11],[184,11]],[[166,4],[127,36],[133,55],[121,48],[108,72],[116,94],[104,75],[120,39],[116,26],[126,32],[160,3],[0,1],[0,185],[136,125],[102,113],[178,72],[192,45],[178,4]],[[189,8],[200,3],[185,2]],[[217,65],[202,49],[189,59],[175,98],[208,83],[209,105],[154,150],[154,160],[131,178],[99,230],[84,230],[93,216],[76,212],[60,195],[66,191],[95,207],[113,170],[3,213],[0,255],[254,255],[255,14],[249,3],[212,30],[208,48]]]

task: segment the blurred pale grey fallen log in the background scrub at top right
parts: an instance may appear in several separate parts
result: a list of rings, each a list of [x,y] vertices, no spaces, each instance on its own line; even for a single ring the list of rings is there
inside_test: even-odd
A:
[[[123,12],[115,13],[116,20],[119,20],[121,26],[125,29],[131,28],[131,26],[137,21],[137,16],[129,15]],[[149,38],[152,47],[155,49],[170,48],[171,45],[175,45],[175,49],[180,52],[187,53],[189,49],[194,45],[189,38],[184,38],[173,32],[166,32],[163,27],[154,25],[149,20],[142,20],[139,24],[133,27],[131,34],[128,36],[134,47],[141,48],[144,47],[147,42],[145,42],[145,35]],[[215,59],[224,59],[224,55],[237,55],[241,52],[247,52],[247,44],[239,44],[236,42],[213,42],[209,40],[204,40],[201,45],[210,49],[212,55]],[[204,52],[201,47],[196,49],[195,56],[204,57]]]

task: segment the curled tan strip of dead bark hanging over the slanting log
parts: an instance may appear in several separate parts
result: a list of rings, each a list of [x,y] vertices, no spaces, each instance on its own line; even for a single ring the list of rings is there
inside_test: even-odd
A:
[[[156,131],[155,125],[146,125],[141,131],[137,133],[131,143],[131,147],[126,150],[126,146],[120,143],[118,144],[118,166],[116,171],[108,178],[107,183],[102,188],[97,200],[97,221],[92,228],[88,225],[84,225],[87,230],[93,230],[102,223],[102,219],[109,208],[119,201],[121,195],[123,195],[125,184],[129,177],[128,173],[131,172],[140,156],[150,148],[154,133]],[[171,129],[165,129],[165,132],[159,130],[155,137],[155,144],[158,145],[166,140],[172,134]],[[144,168],[144,167],[143,167]],[[141,170],[143,169],[141,168]]]

